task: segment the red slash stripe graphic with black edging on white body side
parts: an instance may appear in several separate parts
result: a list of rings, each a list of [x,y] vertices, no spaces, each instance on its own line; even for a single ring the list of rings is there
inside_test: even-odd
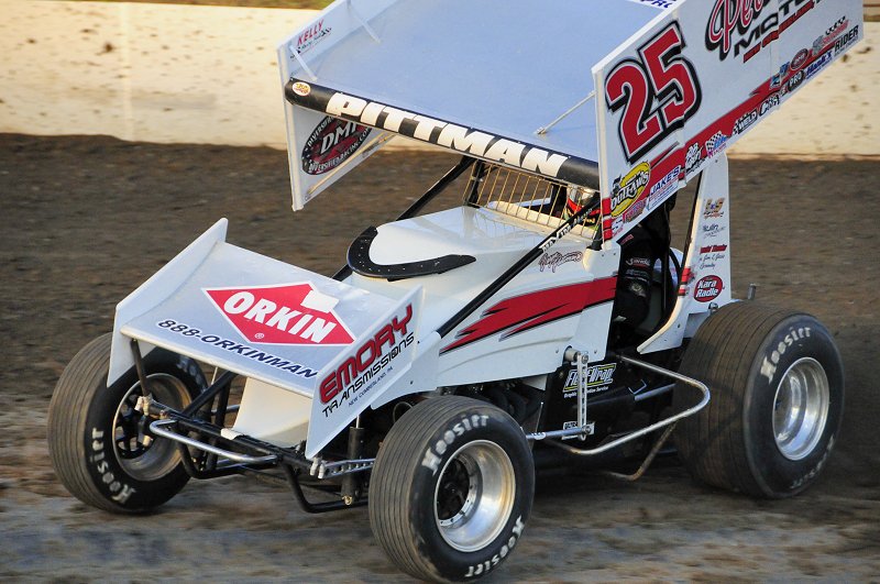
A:
[[[591,306],[614,299],[616,277],[559,286],[506,298],[483,311],[480,320],[460,330],[458,339],[440,353],[460,349],[501,333],[499,341],[536,327],[571,317]]]

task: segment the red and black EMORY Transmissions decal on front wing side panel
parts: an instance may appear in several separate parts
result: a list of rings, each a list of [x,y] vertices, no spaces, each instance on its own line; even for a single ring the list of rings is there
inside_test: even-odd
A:
[[[407,305],[321,381],[324,418],[343,403],[353,406],[394,370],[395,359],[416,342],[408,327],[411,319],[413,305]]]

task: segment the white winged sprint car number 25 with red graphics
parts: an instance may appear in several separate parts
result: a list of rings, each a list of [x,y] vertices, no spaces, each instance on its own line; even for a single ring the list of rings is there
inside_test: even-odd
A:
[[[851,0],[338,0],[278,48],[294,210],[394,137],[461,162],[332,277],[208,229],[64,371],[58,477],[118,513],[231,474],[369,505],[432,581],[528,546],[542,465],[638,456],[634,480],[674,444],[708,485],[800,493],[842,360],[813,317],[734,298],[725,152],[861,34]],[[622,322],[648,222],[648,310]]]

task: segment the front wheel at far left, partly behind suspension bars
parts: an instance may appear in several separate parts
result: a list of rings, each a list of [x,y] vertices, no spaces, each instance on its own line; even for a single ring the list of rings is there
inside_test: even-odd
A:
[[[189,480],[177,447],[139,440],[134,410],[141,384],[132,367],[107,387],[110,335],[94,340],[62,373],[48,410],[48,450],[64,486],[81,502],[116,513],[145,511],[176,495]],[[195,361],[162,349],[144,357],[155,399],[183,409],[205,387]]]

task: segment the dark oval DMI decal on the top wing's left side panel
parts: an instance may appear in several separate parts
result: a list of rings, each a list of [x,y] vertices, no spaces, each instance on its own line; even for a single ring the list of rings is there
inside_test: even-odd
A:
[[[310,175],[329,173],[354,154],[370,128],[329,115],[321,120],[302,147],[302,170]]]

